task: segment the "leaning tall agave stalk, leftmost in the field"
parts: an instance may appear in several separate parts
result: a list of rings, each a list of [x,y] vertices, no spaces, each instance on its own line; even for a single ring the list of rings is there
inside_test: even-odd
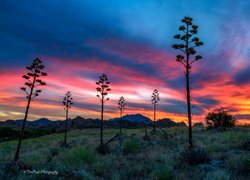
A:
[[[19,152],[20,152],[20,148],[21,148],[23,135],[24,135],[26,120],[27,120],[28,113],[29,113],[30,102],[35,97],[39,96],[39,93],[42,92],[41,90],[38,90],[36,88],[38,86],[45,86],[46,85],[46,83],[43,82],[40,79],[40,77],[47,76],[47,73],[42,71],[44,69],[44,65],[42,65],[42,61],[38,58],[36,58],[30,66],[27,66],[26,69],[29,70],[29,72],[26,75],[23,75],[23,78],[26,80],[26,82],[25,82],[26,87],[21,87],[21,90],[23,90],[27,94],[26,98],[28,100],[28,103],[26,106],[26,111],[25,111],[25,116],[23,119],[21,134],[20,134],[20,138],[18,141],[18,145],[17,145],[15,157],[14,157],[14,161],[16,161],[16,162],[19,159]]]

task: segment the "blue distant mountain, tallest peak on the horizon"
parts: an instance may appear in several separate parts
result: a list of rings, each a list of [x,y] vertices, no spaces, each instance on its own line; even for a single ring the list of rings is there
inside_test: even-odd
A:
[[[111,122],[119,122],[120,119],[122,121],[128,121],[131,123],[144,123],[144,124],[150,124],[150,122],[152,122],[151,119],[149,119],[146,116],[143,116],[141,114],[129,114],[129,115],[125,115],[122,118],[114,118],[114,119],[110,119],[109,121]]]

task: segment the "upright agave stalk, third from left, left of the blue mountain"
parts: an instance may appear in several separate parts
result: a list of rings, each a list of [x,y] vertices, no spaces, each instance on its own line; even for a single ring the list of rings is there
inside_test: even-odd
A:
[[[109,84],[110,82],[108,81],[107,75],[106,74],[102,74],[99,77],[99,81],[96,82],[96,84],[98,85],[98,87],[96,88],[96,90],[98,91],[97,97],[100,99],[101,101],[101,131],[100,131],[100,152],[104,151],[104,144],[103,144],[103,112],[104,112],[104,103],[106,101],[109,100],[109,98],[106,98],[106,96],[108,95],[108,92],[111,91],[111,89],[109,88]]]

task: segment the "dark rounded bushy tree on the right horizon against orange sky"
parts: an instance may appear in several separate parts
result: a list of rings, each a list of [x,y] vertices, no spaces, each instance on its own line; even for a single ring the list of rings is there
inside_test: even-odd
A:
[[[210,112],[206,116],[206,124],[209,128],[233,127],[235,121],[236,119],[224,110]]]

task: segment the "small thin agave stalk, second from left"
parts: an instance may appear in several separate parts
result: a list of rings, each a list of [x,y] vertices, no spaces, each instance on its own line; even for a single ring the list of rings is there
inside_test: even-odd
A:
[[[69,118],[69,109],[71,108],[71,105],[73,105],[73,98],[70,92],[67,92],[65,94],[65,97],[63,98],[63,105],[65,106],[64,110],[66,112],[66,119],[65,119],[65,135],[64,135],[64,142],[63,145],[66,145],[67,143],[67,131],[68,131],[68,118]]]

